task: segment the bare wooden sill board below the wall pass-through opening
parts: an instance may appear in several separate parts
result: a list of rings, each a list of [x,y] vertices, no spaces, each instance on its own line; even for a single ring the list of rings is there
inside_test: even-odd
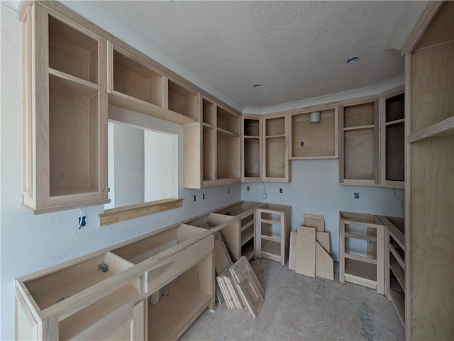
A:
[[[182,206],[183,199],[162,199],[148,203],[136,203],[135,205],[111,208],[99,215],[99,226],[119,223],[124,220],[148,216]]]

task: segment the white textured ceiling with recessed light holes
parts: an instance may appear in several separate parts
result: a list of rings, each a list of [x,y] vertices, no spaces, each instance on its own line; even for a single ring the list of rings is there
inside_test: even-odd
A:
[[[386,46],[409,1],[102,4],[243,106],[335,94],[404,73],[404,57]],[[352,56],[359,62],[346,64]]]

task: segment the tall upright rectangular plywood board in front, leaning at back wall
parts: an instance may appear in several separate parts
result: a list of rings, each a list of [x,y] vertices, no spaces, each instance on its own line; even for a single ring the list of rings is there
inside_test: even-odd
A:
[[[299,226],[297,231],[297,253],[295,272],[315,277],[315,238],[316,229]]]

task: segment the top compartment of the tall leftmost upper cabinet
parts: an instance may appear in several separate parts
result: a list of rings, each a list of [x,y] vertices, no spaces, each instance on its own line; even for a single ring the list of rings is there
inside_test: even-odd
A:
[[[49,67],[98,83],[98,41],[49,15]]]

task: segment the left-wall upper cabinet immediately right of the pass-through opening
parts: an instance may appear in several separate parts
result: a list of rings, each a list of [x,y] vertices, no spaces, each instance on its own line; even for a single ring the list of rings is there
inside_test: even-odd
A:
[[[240,181],[240,117],[201,97],[201,123],[184,125],[184,187]]]

